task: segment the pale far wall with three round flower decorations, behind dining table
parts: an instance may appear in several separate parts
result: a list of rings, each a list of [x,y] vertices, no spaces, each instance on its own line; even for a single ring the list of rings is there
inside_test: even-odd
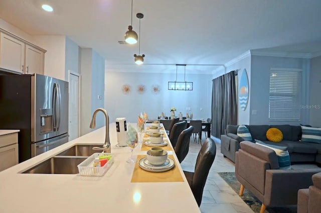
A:
[[[146,112],[149,118],[157,118],[161,112],[170,116],[170,109],[177,109],[176,116],[182,112],[193,113],[193,119],[211,118],[211,74],[188,74],[187,81],[193,81],[193,91],[168,90],[168,81],[174,81],[176,74],[108,72],[105,73],[105,109],[110,122],[118,117],[125,117],[127,122],[136,123],[137,116]],[[179,78],[178,78],[179,79]],[[130,85],[130,92],[122,92],[124,84]],[[144,85],[145,91],[139,93],[138,85]],[[161,89],[154,93],[152,87]],[[191,108],[187,111],[186,108]],[[201,110],[202,108],[202,110]]]

